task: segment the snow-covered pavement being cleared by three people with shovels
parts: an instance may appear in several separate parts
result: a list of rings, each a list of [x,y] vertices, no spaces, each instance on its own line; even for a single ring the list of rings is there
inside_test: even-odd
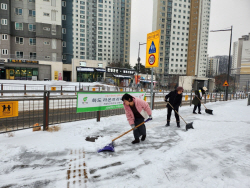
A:
[[[125,115],[61,125],[59,132],[0,135],[0,187],[250,187],[250,106],[247,100],[208,103],[214,115],[180,108],[194,130],[165,127],[166,109],[154,110],[147,139],[132,133],[115,141],[114,153],[97,153],[130,127]],[[87,136],[102,136],[96,142]]]

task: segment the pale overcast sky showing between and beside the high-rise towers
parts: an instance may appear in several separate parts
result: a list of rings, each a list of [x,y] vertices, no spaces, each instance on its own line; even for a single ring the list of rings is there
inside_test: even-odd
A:
[[[233,25],[233,42],[250,33],[250,0],[211,0],[210,28],[218,30]],[[146,42],[152,32],[153,0],[132,0],[130,64],[135,65],[139,42]],[[209,33],[208,54],[228,55],[230,31]],[[233,45],[233,43],[232,43]],[[231,54],[233,53],[233,46]],[[146,46],[141,46],[141,63],[145,64]]]

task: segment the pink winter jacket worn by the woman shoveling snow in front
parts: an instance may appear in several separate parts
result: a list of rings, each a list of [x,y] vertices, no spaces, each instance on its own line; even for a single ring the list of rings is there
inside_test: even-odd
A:
[[[137,111],[145,118],[147,119],[149,115],[152,115],[152,111],[148,105],[148,103],[142,99],[133,97],[133,101],[135,102],[135,107],[137,109]],[[125,105],[123,103],[124,109],[125,109],[125,113],[128,119],[128,122],[130,125],[135,124],[135,117],[133,114],[133,111],[131,110],[130,106]]]

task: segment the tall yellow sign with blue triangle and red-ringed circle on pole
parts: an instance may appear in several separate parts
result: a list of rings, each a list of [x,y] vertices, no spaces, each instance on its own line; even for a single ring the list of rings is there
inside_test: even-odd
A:
[[[147,34],[146,68],[159,67],[161,30]]]

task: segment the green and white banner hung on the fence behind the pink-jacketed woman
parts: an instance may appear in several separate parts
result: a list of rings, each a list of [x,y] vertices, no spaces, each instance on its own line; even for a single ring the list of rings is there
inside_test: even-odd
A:
[[[123,108],[121,100],[124,93],[96,93],[96,92],[78,92],[77,93],[77,113],[94,112],[103,110],[112,110]],[[143,99],[144,92],[130,92],[130,95]]]

